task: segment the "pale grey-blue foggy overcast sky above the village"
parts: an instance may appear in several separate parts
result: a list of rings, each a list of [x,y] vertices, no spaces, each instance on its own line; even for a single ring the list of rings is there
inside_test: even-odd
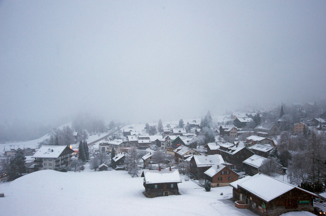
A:
[[[177,120],[325,98],[326,1],[1,1],[0,118]]]

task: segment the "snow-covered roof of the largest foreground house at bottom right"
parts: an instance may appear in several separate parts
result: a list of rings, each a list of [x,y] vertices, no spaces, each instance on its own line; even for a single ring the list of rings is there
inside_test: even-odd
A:
[[[235,182],[230,183],[230,185],[234,188],[242,187],[257,197],[265,200],[266,202],[281,196],[293,188],[297,188],[312,196],[317,197],[316,194],[311,193],[307,190],[296,187],[292,184],[282,182],[268,175],[259,173],[254,176],[247,176],[245,178],[239,179]]]

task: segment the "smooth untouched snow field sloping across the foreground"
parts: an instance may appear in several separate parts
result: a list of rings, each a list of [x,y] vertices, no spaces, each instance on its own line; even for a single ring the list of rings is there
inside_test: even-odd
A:
[[[255,215],[237,209],[230,186],[206,192],[191,181],[179,183],[180,196],[147,198],[143,178],[126,171],[43,170],[0,184],[0,215]],[[183,175],[181,175],[183,178]],[[223,192],[223,195],[220,193]],[[285,216],[312,215],[290,212]]]

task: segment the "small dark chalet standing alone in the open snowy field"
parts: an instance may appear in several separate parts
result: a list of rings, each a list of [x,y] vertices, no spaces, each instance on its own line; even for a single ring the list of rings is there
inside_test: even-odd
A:
[[[146,197],[163,197],[169,195],[180,195],[178,183],[181,183],[181,177],[178,169],[169,170],[149,170],[143,171],[141,177],[144,177],[143,185]]]

